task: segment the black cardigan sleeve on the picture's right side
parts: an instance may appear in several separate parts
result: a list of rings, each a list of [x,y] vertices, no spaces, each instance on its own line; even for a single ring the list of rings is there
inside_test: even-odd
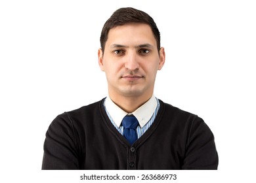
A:
[[[182,169],[217,169],[219,158],[211,129],[198,116],[188,128]]]

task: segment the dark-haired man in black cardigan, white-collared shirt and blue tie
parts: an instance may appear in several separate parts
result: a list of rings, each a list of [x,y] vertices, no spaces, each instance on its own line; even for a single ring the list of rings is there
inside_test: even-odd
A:
[[[217,169],[213,133],[203,120],[154,97],[165,63],[154,20],[120,8],[100,43],[108,97],[54,119],[42,169]]]

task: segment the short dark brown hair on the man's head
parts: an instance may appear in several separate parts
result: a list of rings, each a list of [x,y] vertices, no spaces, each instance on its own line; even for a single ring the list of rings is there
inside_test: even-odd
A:
[[[150,25],[156,39],[158,51],[160,50],[160,31],[158,30],[153,18],[146,14],[146,12],[128,7],[117,9],[104,24],[100,35],[100,46],[103,53],[110,29],[127,23],[143,23]]]

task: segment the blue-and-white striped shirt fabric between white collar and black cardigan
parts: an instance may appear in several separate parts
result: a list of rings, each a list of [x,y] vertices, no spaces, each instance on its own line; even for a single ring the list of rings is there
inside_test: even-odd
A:
[[[160,103],[158,101],[158,99],[156,98],[157,101],[157,106],[156,109],[154,110],[154,113],[152,114],[150,120],[143,126],[140,127],[140,125],[138,125],[137,127],[137,137],[138,139],[146,132],[146,130],[153,124],[156,115],[158,114],[158,110],[160,108]],[[116,123],[114,122],[114,120],[112,119],[111,115],[109,114],[108,110],[106,109],[106,105],[105,105],[106,99],[104,100],[104,108],[106,110],[106,114],[108,115],[108,118],[110,118],[110,122],[114,125],[114,127],[116,127],[117,131],[119,131],[119,133],[121,133],[121,135],[123,135],[123,125],[120,125],[119,127],[116,125]]]

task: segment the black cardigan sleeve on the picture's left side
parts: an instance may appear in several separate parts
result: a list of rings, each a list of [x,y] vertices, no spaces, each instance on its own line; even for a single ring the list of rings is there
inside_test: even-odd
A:
[[[47,130],[42,169],[79,169],[74,126],[65,113],[57,116]]]

